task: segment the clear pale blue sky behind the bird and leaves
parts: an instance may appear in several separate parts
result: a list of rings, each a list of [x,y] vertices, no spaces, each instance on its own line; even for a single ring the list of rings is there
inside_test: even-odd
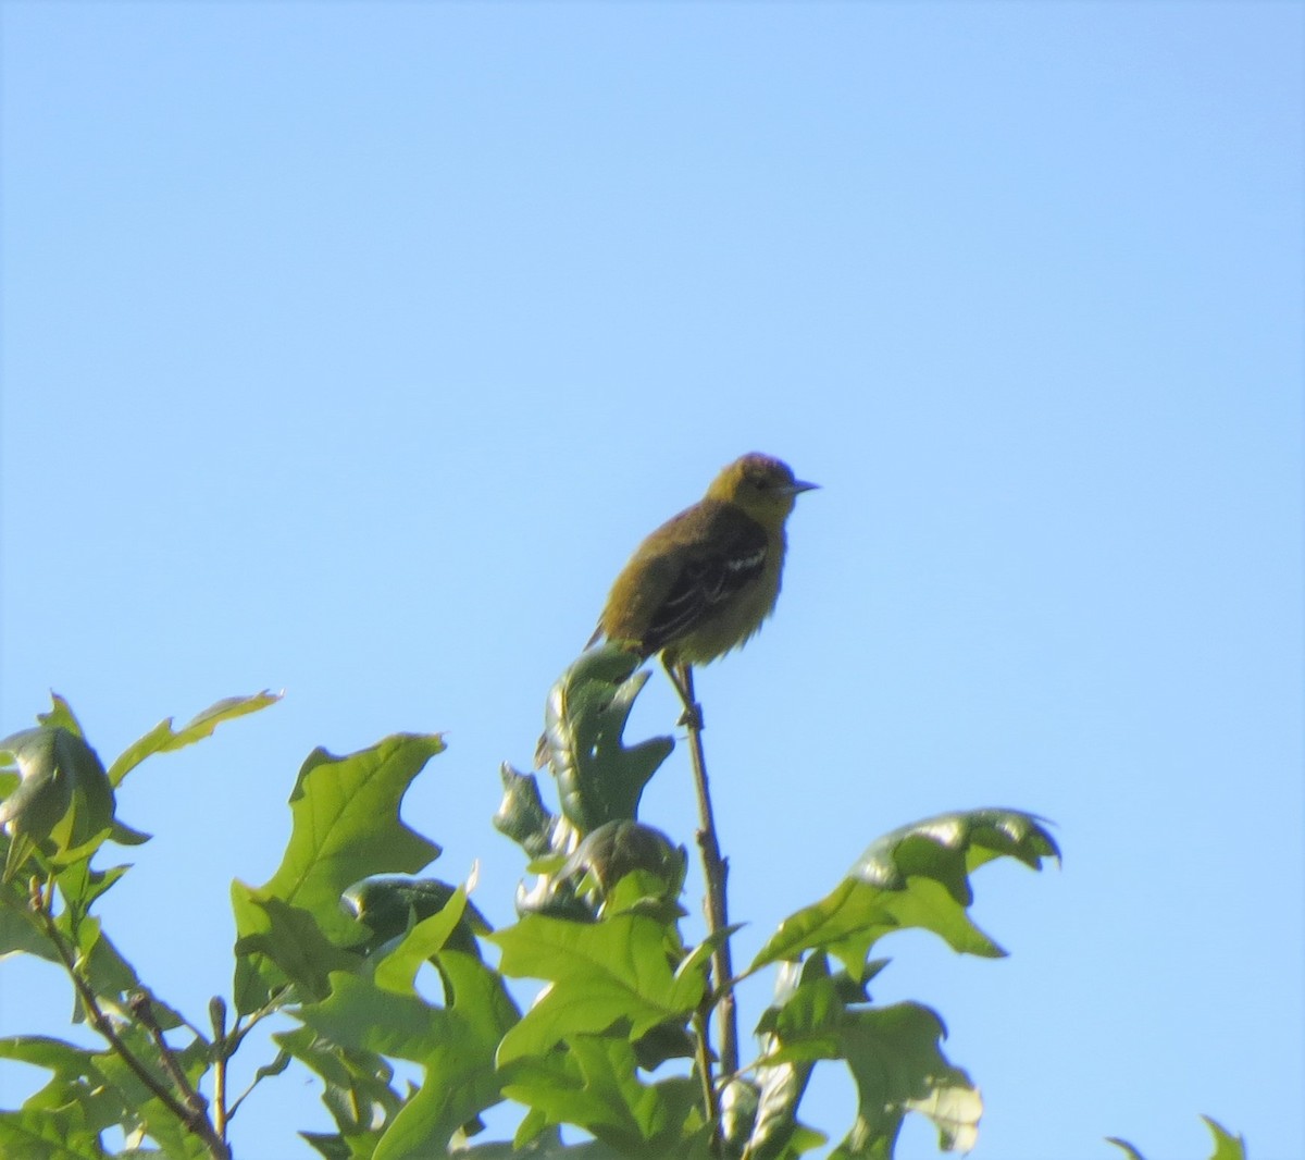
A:
[[[106,924],[162,995],[228,989],[318,745],[446,730],[407,816],[510,921],[499,763],[761,449],[823,490],[699,675],[736,959],[883,831],[1039,813],[1064,869],[976,879],[1011,958],[902,937],[873,988],[946,1020],[976,1160],[1205,1157],[1199,1113],[1305,1156],[1301,5],[3,18],[0,732],[54,688],[110,759],[286,691],[120,796],[157,837]],[[675,716],[658,678],[636,728]],[[645,806],[692,840],[683,747]],[[0,964],[0,1033],[68,1007]],[[238,1155],[328,1123],[283,1076]]]

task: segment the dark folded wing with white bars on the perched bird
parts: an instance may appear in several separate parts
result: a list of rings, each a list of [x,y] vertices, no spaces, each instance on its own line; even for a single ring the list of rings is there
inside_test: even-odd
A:
[[[710,547],[692,545],[680,554],[676,575],[643,634],[647,656],[711,619],[765,568],[766,529],[741,512],[726,515],[723,528],[718,521],[709,542]]]

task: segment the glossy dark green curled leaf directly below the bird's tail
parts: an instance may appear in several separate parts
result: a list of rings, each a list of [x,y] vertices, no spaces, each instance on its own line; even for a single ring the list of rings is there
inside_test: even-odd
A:
[[[675,742],[621,742],[634,699],[649,679],[641,661],[615,644],[585,652],[557,681],[545,708],[545,747],[562,814],[589,833],[638,816],[643,786]],[[633,674],[633,675],[632,675]]]

